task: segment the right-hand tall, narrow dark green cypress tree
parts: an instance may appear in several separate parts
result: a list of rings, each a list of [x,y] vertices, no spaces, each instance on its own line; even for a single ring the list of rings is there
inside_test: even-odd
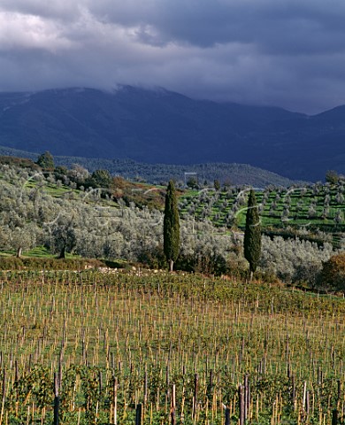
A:
[[[261,253],[261,223],[254,190],[250,190],[244,231],[244,257],[249,261],[250,280],[257,270]]]

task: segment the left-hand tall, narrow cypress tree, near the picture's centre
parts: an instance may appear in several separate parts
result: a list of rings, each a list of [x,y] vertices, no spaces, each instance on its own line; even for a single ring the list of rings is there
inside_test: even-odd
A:
[[[169,263],[169,270],[173,272],[173,263],[178,258],[180,251],[180,217],[175,185],[172,180],[166,189],[163,234],[165,258]]]

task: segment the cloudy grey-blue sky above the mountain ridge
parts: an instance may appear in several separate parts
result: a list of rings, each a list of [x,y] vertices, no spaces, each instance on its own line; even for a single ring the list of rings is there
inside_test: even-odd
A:
[[[117,83],[345,104],[344,0],[0,0],[0,91]]]

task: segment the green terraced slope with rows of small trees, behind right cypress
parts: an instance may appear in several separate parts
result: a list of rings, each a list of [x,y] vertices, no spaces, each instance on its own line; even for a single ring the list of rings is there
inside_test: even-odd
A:
[[[236,187],[215,191],[205,188],[197,193],[185,193],[180,197],[180,215],[193,214],[196,220],[211,220],[217,227],[245,227],[245,193],[248,187]],[[313,184],[292,186],[288,189],[267,186],[257,190],[257,203],[264,233],[308,236],[315,238],[326,233],[345,230],[344,184]]]

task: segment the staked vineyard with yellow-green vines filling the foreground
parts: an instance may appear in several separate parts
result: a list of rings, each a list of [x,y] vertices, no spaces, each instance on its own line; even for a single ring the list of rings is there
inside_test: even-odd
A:
[[[1,424],[345,423],[344,298],[146,270],[0,277]]]

